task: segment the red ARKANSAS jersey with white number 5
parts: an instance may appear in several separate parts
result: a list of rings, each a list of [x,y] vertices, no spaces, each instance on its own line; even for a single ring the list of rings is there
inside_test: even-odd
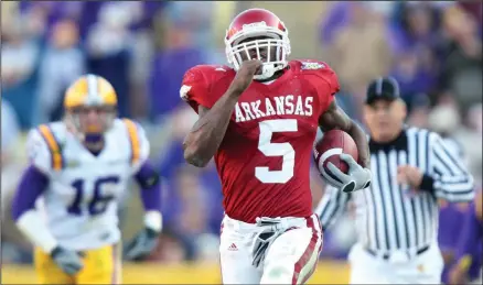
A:
[[[257,217],[312,215],[310,163],[319,117],[339,91],[325,64],[292,61],[271,83],[253,81],[238,99],[215,154],[226,215],[245,222]],[[186,72],[181,97],[197,112],[211,108],[236,72],[198,65]]]

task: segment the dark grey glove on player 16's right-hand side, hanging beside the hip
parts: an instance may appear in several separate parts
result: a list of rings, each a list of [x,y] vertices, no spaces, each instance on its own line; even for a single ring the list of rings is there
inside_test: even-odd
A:
[[[140,261],[147,257],[158,245],[160,232],[144,228],[124,248],[125,257],[130,261]]]

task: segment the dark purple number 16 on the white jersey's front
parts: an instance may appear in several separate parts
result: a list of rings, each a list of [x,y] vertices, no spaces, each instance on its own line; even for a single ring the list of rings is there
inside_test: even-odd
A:
[[[83,201],[84,201],[84,180],[77,179],[75,180],[72,186],[76,189],[75,198],[72,205],[67,208],[67,211],[75,216],[83,215]],[[110,200],[114,199],[112,195],[105,195],[103,196],[100,189],[103,186],[108,184],[117,184],[119,183],[119,177],[117,176],[107,176],[98,178],[94,183],[94,193],[93,198],[88,202],[88,212],[92,216],[99,215],[106,211],[107,205]]]

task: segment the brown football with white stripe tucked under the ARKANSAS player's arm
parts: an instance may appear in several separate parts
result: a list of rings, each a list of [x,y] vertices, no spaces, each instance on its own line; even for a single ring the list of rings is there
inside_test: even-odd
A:
[[[333,163],[335,167],[343,173],[347,173],[348,165],[340,158],[342,153],[350,154],[358,161],[357,146],[348,133],[341,130],[325,132],[319,141],[315,142],[313,154],[315,164],[322,176],[334,177],[328,168],[328,163]]]

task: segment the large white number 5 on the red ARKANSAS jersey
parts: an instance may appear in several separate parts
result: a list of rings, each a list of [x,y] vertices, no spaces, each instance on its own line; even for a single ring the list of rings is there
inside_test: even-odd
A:
[[[297,132],[297,120],[279,119],[261,121],[259,128],[258,150],[266,156],[283,156],[283,162],[280,171],[270,171],[267,166],[255,167],[255,177],[262,183],[287,183],[293,177],[296,150],[288,142],[272,143],[271,135],[276,132]]]

